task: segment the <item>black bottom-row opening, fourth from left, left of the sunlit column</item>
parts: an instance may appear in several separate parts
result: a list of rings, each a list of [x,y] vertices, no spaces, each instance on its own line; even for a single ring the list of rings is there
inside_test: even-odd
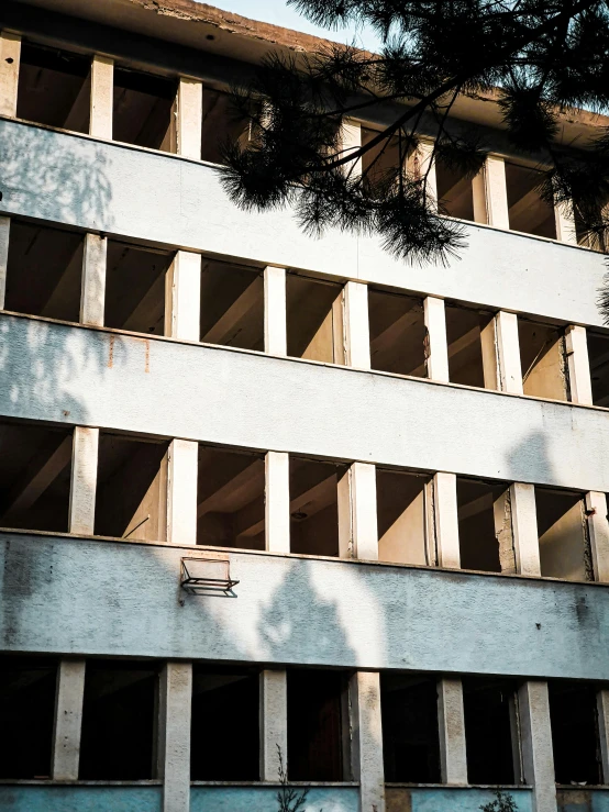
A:
[[[341,671],[288,670],[290,781],[348,780],[348,687]]]

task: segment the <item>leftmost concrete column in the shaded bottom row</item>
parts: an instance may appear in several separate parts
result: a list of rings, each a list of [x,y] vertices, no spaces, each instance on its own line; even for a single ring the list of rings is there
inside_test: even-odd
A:
[[[53,732],[54,781],[77,781],[85,696],[85,660],[63,659],[57,671]]]

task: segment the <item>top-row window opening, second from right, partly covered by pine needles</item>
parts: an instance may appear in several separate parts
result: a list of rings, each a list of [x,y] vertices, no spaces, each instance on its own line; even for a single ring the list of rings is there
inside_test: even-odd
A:
[[[539,192],[542,181],[543,173],[538,169],[506,162],[510,229],[556,240],[554,207],[543,200]]]

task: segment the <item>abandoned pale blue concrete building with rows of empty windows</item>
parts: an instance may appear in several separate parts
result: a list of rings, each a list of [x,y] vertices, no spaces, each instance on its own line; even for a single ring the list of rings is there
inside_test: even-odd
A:
[[[236,209],[228,89],[318,47],[0,4],[3,811],[273,812],[280,753],[303,812],[609,812],[602,246],[492,97],[449,267]]]

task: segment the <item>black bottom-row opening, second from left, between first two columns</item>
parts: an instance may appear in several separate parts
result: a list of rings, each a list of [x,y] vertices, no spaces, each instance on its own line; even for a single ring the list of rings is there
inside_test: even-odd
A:
[[[139,781],[153,766],[158,667],[89,660],[85,674],[81,781]]]

